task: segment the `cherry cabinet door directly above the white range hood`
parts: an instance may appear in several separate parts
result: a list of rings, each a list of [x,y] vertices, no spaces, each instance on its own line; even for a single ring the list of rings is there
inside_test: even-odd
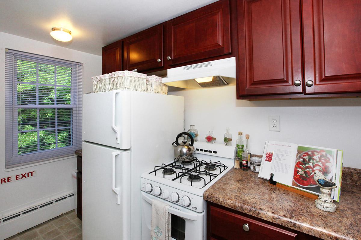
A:
[[[229,0],[222,0],[167,22],[169,65],[231,52]]]

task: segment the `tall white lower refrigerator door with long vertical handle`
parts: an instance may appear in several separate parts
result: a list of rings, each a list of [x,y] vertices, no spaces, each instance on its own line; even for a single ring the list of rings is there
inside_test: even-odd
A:
[[[83,240],[131,239],[130,150],[83,142]]]

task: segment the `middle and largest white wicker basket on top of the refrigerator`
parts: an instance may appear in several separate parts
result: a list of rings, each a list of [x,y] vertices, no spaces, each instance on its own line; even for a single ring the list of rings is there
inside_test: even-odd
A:
[[[109,73],[111,90],[127,89],[146,92],[147,75],[138,72],[118,71]]]

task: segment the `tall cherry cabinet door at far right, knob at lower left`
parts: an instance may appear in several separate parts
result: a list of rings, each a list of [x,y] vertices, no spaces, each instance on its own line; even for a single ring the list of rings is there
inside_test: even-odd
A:
[[[303,0],[306,94],[361,91],[361,1]]]

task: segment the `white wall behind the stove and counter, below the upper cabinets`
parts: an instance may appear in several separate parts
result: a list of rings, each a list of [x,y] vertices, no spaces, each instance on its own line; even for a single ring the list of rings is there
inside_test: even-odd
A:
[[[170,90],[184,96],[184,127],[195,124],[200,141],[213,130],[222,143],[230,127],[234,140],[250,134],[251,153],[262,154],[266,140],[337,148],[344,167],[361,168],[360,98],[246,101],[236,100],[235,86]],[[280,132],[269,131],[268,116],[280,116]]]

